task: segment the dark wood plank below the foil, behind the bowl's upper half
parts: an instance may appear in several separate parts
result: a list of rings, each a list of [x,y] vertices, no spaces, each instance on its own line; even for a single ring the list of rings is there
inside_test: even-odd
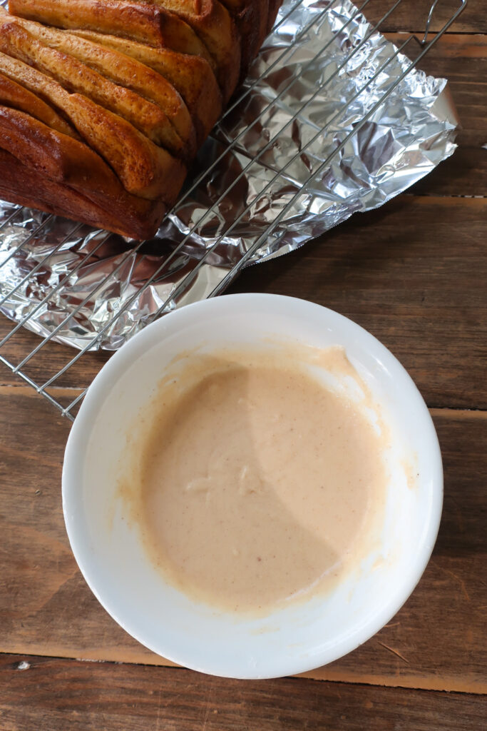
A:
[[[229,292],[314,300],[370,330],[410,371],[429,406],[486,408],[487,200],[402,195],[299,251],[246,270]],[[12,325],[0,317],[0,338]],[[39,338],[0,350],[19,363]],[[74,351],[49,344],[26,371],[43,382]],[[88,353],[55,385],[85,387],[108,355]],[[0,384],[18,384],[0,364]]]

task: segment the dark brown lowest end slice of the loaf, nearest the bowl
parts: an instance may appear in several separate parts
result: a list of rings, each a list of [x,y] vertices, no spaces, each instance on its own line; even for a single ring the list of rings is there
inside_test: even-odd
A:
[[[165,211],[126,193],[83,143],[1,106],[0,197],[132,238],[153,235]]]

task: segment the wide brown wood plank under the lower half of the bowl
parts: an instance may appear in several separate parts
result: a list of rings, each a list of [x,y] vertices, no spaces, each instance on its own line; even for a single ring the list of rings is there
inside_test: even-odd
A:
[[[391,623],[315,678],[487,692],[487,414],[433,416],[445,504],[432,561]],[[112,621],[77,570],[61,510],[68,432],[27,388],[1,389],[0,652],[166,664]]]

